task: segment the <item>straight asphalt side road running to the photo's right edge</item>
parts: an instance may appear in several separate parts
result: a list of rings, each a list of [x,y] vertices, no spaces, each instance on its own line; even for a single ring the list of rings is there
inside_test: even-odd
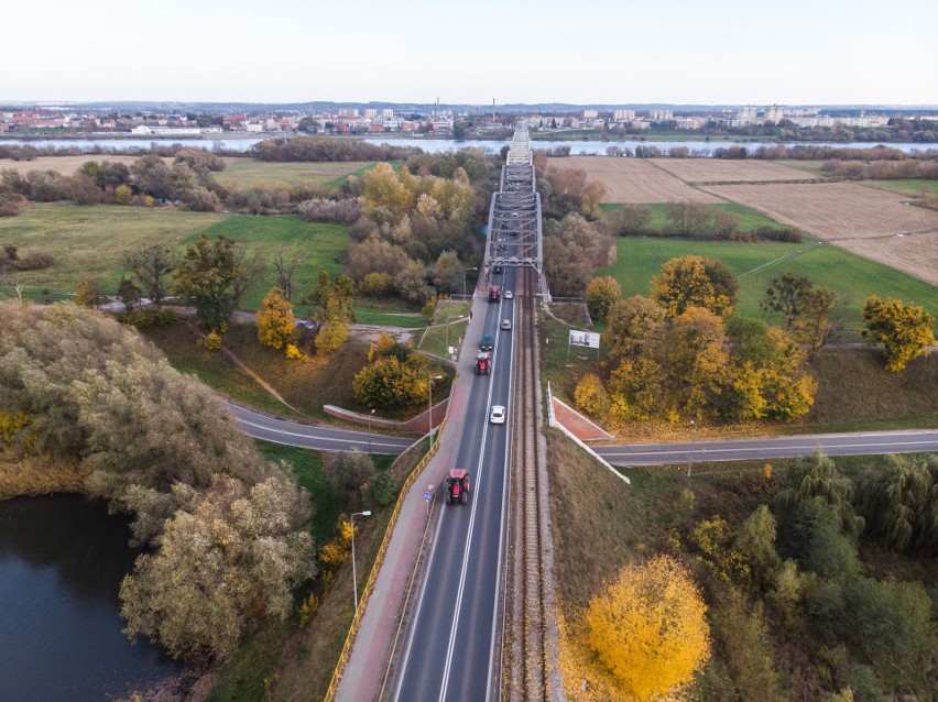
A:
[[[695,461],[796,458],[818,449],[827,456],[920,453],[938,451],[938,429],[803,435],[733,441],[697,441]],[[628,443],[593,446],[614,465],[666,465],[691,460],[691,443]]]

